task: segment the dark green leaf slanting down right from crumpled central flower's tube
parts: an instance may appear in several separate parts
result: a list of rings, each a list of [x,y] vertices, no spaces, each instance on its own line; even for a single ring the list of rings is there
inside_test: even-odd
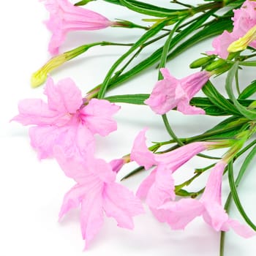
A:
[[[239,115],[239,111],[236,110],[235,106],[230,103],[222,94],[215,89],[213,84],[208,80],[208,82],[203,86],[202,91],[210,101],[216,105],[218,108],[225,110],[227,113],[232,113],[233,115]]]

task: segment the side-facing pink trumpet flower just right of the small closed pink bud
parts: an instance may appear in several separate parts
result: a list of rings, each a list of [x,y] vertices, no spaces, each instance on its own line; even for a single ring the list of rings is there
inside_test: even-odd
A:
[[[157,208],[170,199],[174,200],[173,173],[178,167],[184,165],[185,162],[196,154],[206,150],[212,143],[190,143],[165,154],[153,154],[146,146],[145,132],[146,129],[143,129],[135,138],[130,158],[139,165],[145,166],[146,169],[157,165],[140,184],[136,194],[140,199],[146,198],[148,206]]]

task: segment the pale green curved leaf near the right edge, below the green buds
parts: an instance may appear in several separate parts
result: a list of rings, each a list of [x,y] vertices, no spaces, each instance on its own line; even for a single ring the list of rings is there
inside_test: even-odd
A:
[[[237,71],[238,62],[233,64],[233,67],[231,67],[231,69],[227,73],[225,89],[227,91],[228,96],[233,101],[233,104],[236,106],[237,110],[241,113],[241,115],[245,116],[250,120],[256,120],[256,111],[245,108],[238,102],[235,95],[233,94],[233,78],[235,77]]]

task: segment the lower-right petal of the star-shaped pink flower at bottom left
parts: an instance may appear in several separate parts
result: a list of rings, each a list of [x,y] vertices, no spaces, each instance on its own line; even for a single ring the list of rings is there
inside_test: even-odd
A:
[[[132,217],[144,213],[138,197],[135,197],[126,187],[117,183],[105,185],[103,208],[108,217],[116,219],[119,227],[128,229],[134,227]]]

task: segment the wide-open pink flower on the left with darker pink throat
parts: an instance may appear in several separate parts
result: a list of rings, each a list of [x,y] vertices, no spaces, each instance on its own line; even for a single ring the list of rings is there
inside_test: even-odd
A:
[[[31,146],[40,159],[53,157],[53,148],[61,146],[67,155],[94,151],[94,134],[108,135],[116,130],[112,116],[118,106],[104,99],[91,99],[83,104],[83,97],[75,83],[66,78],[55,86],[48,78],[45,86],[48,102],[24,99],[19,103],[19,115],[12,120],[29,129]]]

